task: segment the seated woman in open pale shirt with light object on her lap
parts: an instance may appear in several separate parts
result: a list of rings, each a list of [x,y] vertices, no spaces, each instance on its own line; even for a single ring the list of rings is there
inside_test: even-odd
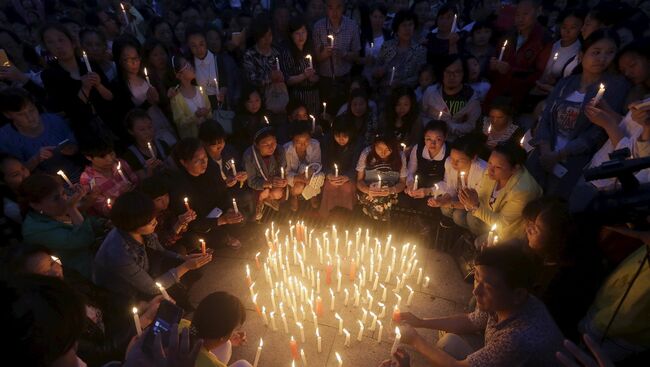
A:
[[[305,122],[291,125],[291,141],[284,145],[287,164],[287,183],[291,187],[289,204],[291,211],[298,210],[298,196],[309,200],[311,207],[318,208],[318,194],[325,182],[322,172],[320,143],[312,139],[311,126]],[[317,167],[320,166],[320,167]],[[311,172],[310,172],[311,171]]]

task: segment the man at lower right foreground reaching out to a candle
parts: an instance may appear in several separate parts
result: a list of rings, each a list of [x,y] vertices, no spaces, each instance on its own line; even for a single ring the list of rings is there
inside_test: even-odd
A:
[[[520,246],[484,249],[476,259],[476,310],[431,319],[402,313],[406,325],[400,328],[401,342],[433,365],[556,365],[555,352],[564,337],[544,304],[529,291],[533,269],[533,261]],[[414,328],[447,334],[431,346]],[[485,332],[485,344],[476,349],[468,340],[478,332]]]

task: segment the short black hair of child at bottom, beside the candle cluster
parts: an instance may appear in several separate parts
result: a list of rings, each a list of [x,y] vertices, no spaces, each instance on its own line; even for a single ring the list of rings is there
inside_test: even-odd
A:
[[[246,322],[246,309],[241,300],[227,292],[214,292],[201,300],[192,327],[199,338],[221,339]]]

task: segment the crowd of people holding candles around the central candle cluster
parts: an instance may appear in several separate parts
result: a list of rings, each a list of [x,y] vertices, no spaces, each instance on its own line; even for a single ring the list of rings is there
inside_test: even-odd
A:
[[[402,313],[410,349],[384,366],[647,360],[650,232],[594,221],[621,182],[584,173],[650,156],[650,1],[0,4],[2,317],[21,365],[249,366],[230,363],[242,302],[188,290],[280,210],[400,212],[471,260],[470,312]],[[148,330],[161,293],[193,318],[152,355],[130,310]]]

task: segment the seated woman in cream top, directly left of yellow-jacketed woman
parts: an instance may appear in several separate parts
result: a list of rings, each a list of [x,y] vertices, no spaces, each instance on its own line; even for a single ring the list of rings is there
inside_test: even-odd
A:
[[[445,161],[445,178],[438,183],[433,197],[427,202],[431,207],[439,207],[442,215],[452,218],[456,225],[463,228],[467,228],[467,209],[458,200],[458,193],[463,187],[479,188],[487,167],[487,163],[478,157],[481,146],[482,139],[472,134],[450,144],[449,157]]]

